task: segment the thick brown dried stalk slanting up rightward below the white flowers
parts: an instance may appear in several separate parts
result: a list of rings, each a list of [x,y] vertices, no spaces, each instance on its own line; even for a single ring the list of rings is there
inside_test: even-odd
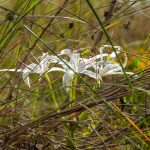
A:
[[[149,70],[147,70],[147,72],[149,73]],[[147,74],[147,72],[145,72],[145,74]],[[143,76],[144,76],[144,74],[143,74]],[[140,79],[144,80],[143,77],[140,77],[137,80],[139,81]],[[150,89],[150,83],[147,82],[147,80],[149,80],[149,79],[146,78],[143,89]],[[136,80],[135,79],[133,79],[133,83],[136,85]],[[119,97],[122,97],[122,95],[127,96],[127,95],[130,95],[130,94],[133,94],[127,88],[118,87],[118,90],[117,90],[116,86],[115,86],[116,90],[112,91],[113,87],[114,87],[113,85],[112,85],[112,87],[110,86],[109,89],[107,90],[107,93],[103,94],[103,98],[105,98],[107,101],[115,100]],[[140,92],[140,91],[136,90],[135,92]],[[102,93],[102,92],[99,91],[99,93]],[[110,93],[111,93],[111,95],[110,95]],[[68,116],[70,114],[78,113],[78,112],[82,112],[82,111],[86,110],[86,108],[81,106],[78,102],[77,102],[77,104],[78,105],[70,108],[69,110],[65,109],[65,110],[62,110],[59,113],[50,112],[49,114],[47,114],[45,116],[42,116],[38,120],[31,121],[30,123],[28,123],[26,125],[14,128],[13,130],[11,130],[9,132],[7,131],[6,134],[4,133],[1,136],[1,138],[7,137],[6,138],[7,140],[5,141],[6,143],[4,144],[4,147],[6,148],[7,145],[13,143],[13,141],[14,141],[14,139],[16,139],[16,137],[19,137],[21,134],[24,134],[24,133],[28,132],[30,129],[37,128],[38,126],[43,125],[44,123],[47,123],[47,122],[49,122],[49,123],[50,122],[55,122],[54,120],[59,118],[59,117]],[[86,107],[92,108],[92,107],[97,106],[97,104],[102,104],[102,101],[101,100],[96,100],[94,102],[86,104]]]

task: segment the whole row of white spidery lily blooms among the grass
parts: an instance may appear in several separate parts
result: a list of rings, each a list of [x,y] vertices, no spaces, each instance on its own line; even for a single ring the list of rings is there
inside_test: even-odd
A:
[[[105,48],[111,48],[111,45],[103,45],[99,49],[99,54],[91,58],[82,58],[80,53],[71,52],[70,49],[63,49],[57,56],[49,55],[48,53],[43,53],[39,57],[39,63],[31,63],[26,65],[23,69],[1,69],[0,71],[13,71],[21,72],[22,77],[26,85],[30,87],[29,75],[31,73],[39,74],[40,76],[47,72],[59,71],[63,72],[63,86],[68,92],[72,86],[72,81],[74,75],[85,74],[93,79],[100,82],[103,76],[123,74],[122,67],[116,61],[116,53],[119,55],[123,50],[120,46],[114,46],[116,53],[112,52],[110,54],[104,53]],[[127,55],[124,53],[124,63],[123,67],[127,64]],[[63,55],[69,57],[69,61],[64,59]],[[51,67],[50,64],[59,64],[60,67]],[[91,71],[92,70],[92,71]],[[133,74],[132,72],[126,72],[126,74]]]

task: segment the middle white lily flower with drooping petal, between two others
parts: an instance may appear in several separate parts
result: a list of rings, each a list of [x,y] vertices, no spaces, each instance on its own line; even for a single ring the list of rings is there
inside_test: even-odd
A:
[[[69,87],[72,85],[72,80],[75,73],[81,73],[88,75],[91,78],[99,79],[95,72],[87,69],[92,67],[93,64],[96,63],[95,60],[100,58],[100,56],[95,56],[91,59],[84,59],[80,58],[79,53],[72,53],[69,49],[62,50],[61,54],[68,55],[70,57],[70,62],[65,61],[67,65],[64,62],[59,63],[65,69],[65,74],[63,76],[63,86],[66,87],[67,92],[69,91]]]

